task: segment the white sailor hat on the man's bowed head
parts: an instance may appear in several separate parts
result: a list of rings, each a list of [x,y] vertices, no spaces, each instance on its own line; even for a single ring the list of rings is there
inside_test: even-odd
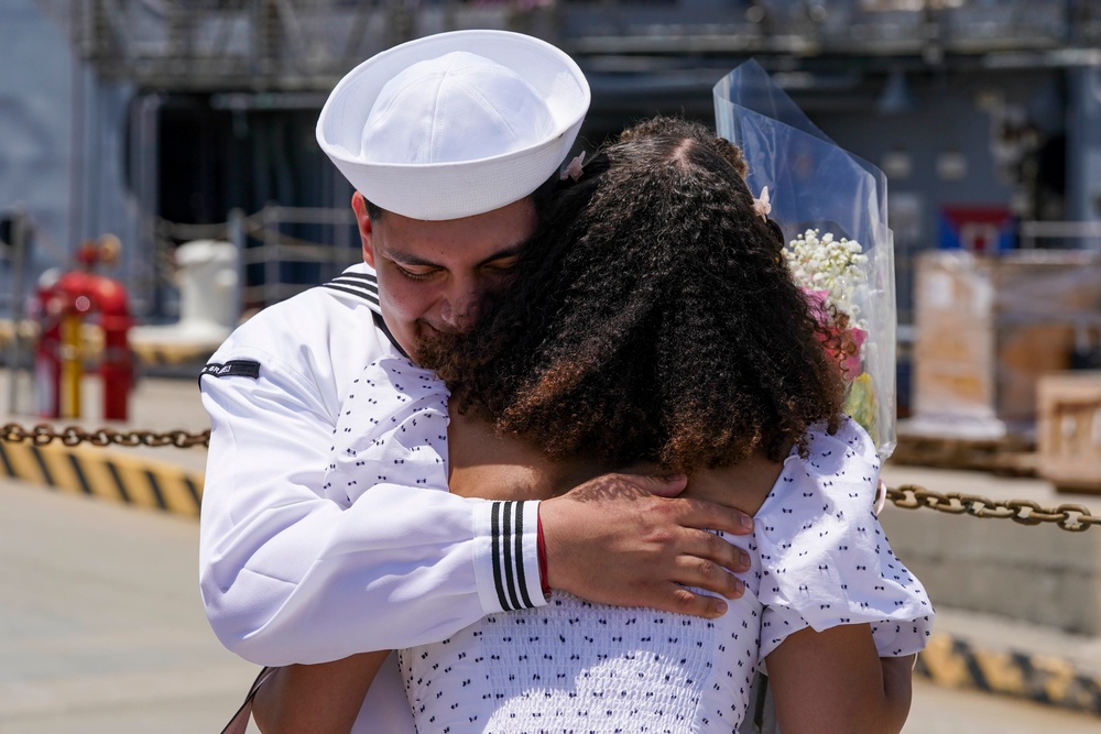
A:
[[[367,199],[414,219],[459,219],[533,193],[558,171],[589,85],[555,46],[455,31],[372,56],[317,120],[317,142]]]

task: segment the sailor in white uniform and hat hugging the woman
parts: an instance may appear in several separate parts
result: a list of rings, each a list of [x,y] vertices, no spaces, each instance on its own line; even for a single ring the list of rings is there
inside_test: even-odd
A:
[[[568,55],[502,31],[411,41],[334,88],[317,140],[356,189],[364,262],[252,317],[200,377],[211,423],[200,584],[230,650],[284,666],[438,642],[545,604],[550,588],[707,617],[741,593],[733,573],[715,572],[744,571],[741,554],[702,528],[752,523],[676,497],[683,476],[614,474],[593,480],[600,492],[489,502],[391,482],[401,457],[385,456],[329,481],[366,369],[400,369],[508,286],[589,101]],[[374,419],[446,435],[446,405],[380,406]],[[405,706],[377,681],[369,702],[380,698]]]

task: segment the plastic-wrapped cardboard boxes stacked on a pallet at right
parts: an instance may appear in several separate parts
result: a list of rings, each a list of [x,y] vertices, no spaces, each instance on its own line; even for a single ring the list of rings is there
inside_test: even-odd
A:
[[[1098,252],[926,252],[914,293],[912,424],[946,435],[1032,431],[1039,379],[1101,333]]]

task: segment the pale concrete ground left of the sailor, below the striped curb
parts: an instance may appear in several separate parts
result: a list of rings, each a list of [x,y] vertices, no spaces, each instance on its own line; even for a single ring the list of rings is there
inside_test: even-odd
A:
[[[220,732],[255,668],[198,596],[189,517],[0,479],[0,734]]]

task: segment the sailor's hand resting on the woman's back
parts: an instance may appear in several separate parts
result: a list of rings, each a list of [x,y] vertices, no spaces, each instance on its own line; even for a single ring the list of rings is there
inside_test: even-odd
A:
[[[707,530],[746,535],[753,521],[676,496],[686,484],[683,475],[604,474],[541,503],[548,585],[604,604],[721,616],[723,598],[745,590],[734,573],[750,558]]]

